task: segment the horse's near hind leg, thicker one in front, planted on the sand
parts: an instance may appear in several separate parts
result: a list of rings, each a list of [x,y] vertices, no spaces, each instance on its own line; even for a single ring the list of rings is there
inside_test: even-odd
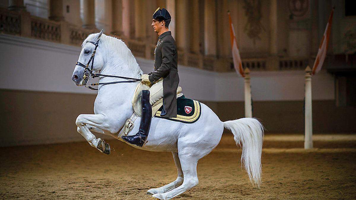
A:
[[[198,185],[197,164],[201,157],[194,155],[194,151],[197,151],[197,149],[193,147],[186,147],[179,150],[178,156],[184,175],[183,184],[166,193],[154,194],[152,195],[153,197],[158,199],[171,199]]]

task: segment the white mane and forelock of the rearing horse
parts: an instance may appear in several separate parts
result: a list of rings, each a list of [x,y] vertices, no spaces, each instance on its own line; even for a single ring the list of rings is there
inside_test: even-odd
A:
[[[98,33],[90,34],[83,41],[82,48],[87,42],[94,42],[97,34]],[[132,78],[140,78],[143,74],[131,50],[122,40],[107,36],[103,33],[100,37],[98,48],[100,48],[100,50],[105,49],[107,58],[105,65],[107,65],[106,67],[113,68],[112,71],[118,72],[122,76],[128,76],[130,74]],[[125,73],[129,74],[125,75]]]

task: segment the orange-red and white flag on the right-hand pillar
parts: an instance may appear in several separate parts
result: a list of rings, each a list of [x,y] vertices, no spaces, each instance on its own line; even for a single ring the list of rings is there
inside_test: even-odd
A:
[[[331,11],[328,24],[326,24],[323,39],[321,39],[318,55],[316,55],[315,62],[313,65],[312,75],[318,73],[321,67],[323,66],[326,57],[326,52],[328,51],[328,44],[329,44],[329,38],[331,32],[331,22],[333,22],[333,14],[334,14],[334,9]]]

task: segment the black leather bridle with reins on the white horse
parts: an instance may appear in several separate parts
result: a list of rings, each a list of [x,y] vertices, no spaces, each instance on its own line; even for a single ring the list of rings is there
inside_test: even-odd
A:
[[[96,77],[114,77],[114,78],[122,78],[122,79],[129,79],[129,80],[123,80],[123,81],[114,81],[114,82],[109,82],[109,83],[90,83],[89,85],[86,83],[85,87],[89,88],[91,90],[98,90],[96,88],[93,88],[91,86],[94,85],[108,85],[108,84],[115,84],[115,83],[132,83],[132,82],[137,82],[137,81],[141,81],[141,79],[137,79],[137,78],[129,78],[129,77],[120,77],[120,76],[114,76],[114,75],[105,75],[105,74],[97,74],[97,73],[93,73],[93,65],[94,65],[94,57],[95,57],[95,53],[96,53],[96,48],[98,48],[99,46],[99,40],[97,42],[92,42],[89,41],[90,43],[95,45],[95,49],[93,51],[93,54],[91,54],[91,57],[88,61],[88,63],[86,65],[84,65],[81,62],[77,62],[75,63],[75,66],[79,65],[80,67],[84,68],[84,72],[83,72],[83,80],[88,79],[87,83],[91,78],[96,78]],[[89,64],[91,62],[91,67],[89,69]]]

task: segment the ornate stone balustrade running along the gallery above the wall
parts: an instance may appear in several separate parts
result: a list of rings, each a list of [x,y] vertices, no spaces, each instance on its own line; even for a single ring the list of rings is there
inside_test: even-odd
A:
[[[0,33],[31,37],[40,40],[80,46],[83,40],[97,29],[75,26],[66,21],[52,21],[31,16],[26,11],[10,11],[0,8]],[[134,56],[154,59],[155,44],[123,38]],[[268,66],[268,58],[242,58],[242,67],[252,71],[304,70],[309,58],[278,58],[276,66]],[[178,49],[178,64],[216,72],[235,71],[232,58],[217,58]]]

